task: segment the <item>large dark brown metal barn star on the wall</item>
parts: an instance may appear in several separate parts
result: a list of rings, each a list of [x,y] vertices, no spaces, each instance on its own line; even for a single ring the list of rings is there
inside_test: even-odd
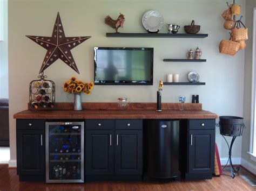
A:
[[[55,25],[51,37],[39,37],[39,36],[27,36],[38,45],[47,49],[46,55],[40,73],[46,68],[51,66],[53,62],[60,59],[66,63],[69,67],[75,70],[78,74],[78,68],[76,62],[72,56],[71,49],[83,43],[85,40],[91,37],[65,37],[62,21],[60,20],[59,13],[56,18]]]

